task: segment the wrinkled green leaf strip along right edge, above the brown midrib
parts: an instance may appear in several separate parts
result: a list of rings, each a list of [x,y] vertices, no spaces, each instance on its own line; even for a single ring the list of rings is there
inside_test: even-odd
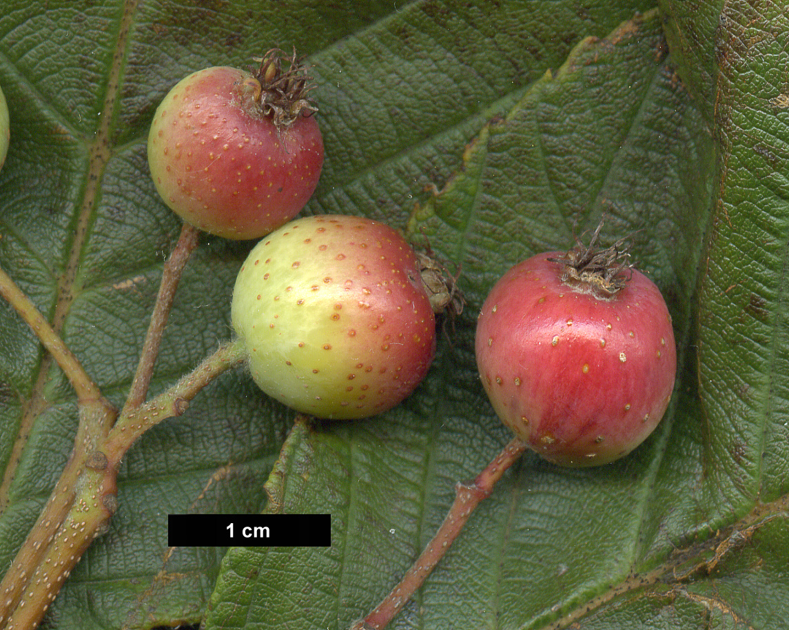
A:
[[[787,489],[787,233],[789,61],[780,7],[724,7],[716,40],[716,215],[701,284],[699,381],[705,457],[733,478],[727,503],[773,501]],[[736,369],[731,369],[736,366]]]

